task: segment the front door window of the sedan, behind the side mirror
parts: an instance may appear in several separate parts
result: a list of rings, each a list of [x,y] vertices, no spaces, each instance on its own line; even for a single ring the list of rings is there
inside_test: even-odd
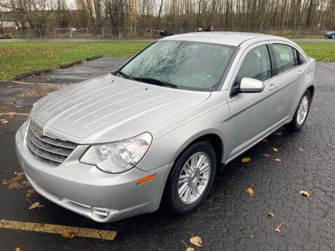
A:
[[[239,68],[239,73],[237,73],[234,80],[232,91],[230,93],[231,97],[239,93],[239,84],[244,77],[251,77],[261,81],[265,81],[272,77],[271,61],[267,45],[255,47],[246,54],[244,61]]]

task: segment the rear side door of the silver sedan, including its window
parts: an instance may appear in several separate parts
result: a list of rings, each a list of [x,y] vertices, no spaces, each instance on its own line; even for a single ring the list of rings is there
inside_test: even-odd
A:
[[[290,121],[297,109],[297,103],[302,95],[301,91],[306,89],[304,76],[309,70],[306,68],[304,56],[289,43],[271,41],[271,48],[278,75],[278,120]]]

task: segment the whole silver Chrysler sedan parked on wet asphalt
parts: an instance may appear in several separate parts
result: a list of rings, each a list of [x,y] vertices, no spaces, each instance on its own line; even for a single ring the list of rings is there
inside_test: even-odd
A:
[[[304,126],[315,61],[291,40],[188,33],[111,74],[51,93],[16,133],[40,195],[97,222],[194,211],[216,172],[272,132]]]

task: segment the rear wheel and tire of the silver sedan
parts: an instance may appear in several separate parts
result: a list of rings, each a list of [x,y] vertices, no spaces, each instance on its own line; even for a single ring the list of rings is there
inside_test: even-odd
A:
[[[288,124],[290,130],[299,132],[304,126],[309,113],[309,107],[311,107],[311,100],[311,91],[306,90],[295,111],[295,116],[293,116],[292,121]]]

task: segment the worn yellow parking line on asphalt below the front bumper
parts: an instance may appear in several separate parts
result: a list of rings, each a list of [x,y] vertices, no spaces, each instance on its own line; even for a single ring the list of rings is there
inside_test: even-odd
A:
[[[75,236],[87,238],[101,238],[103,240],[112,241],[117,236],[117,231],[107,231],[100,229],[89,229],[82,227],[70,227],[62,225],[52,225],[34,222],[20,222],[15,220],[0,219],[0,228],[3,229],[17,229],[23,231],[37,231],[47,234],[64,234],[75,233]]]

